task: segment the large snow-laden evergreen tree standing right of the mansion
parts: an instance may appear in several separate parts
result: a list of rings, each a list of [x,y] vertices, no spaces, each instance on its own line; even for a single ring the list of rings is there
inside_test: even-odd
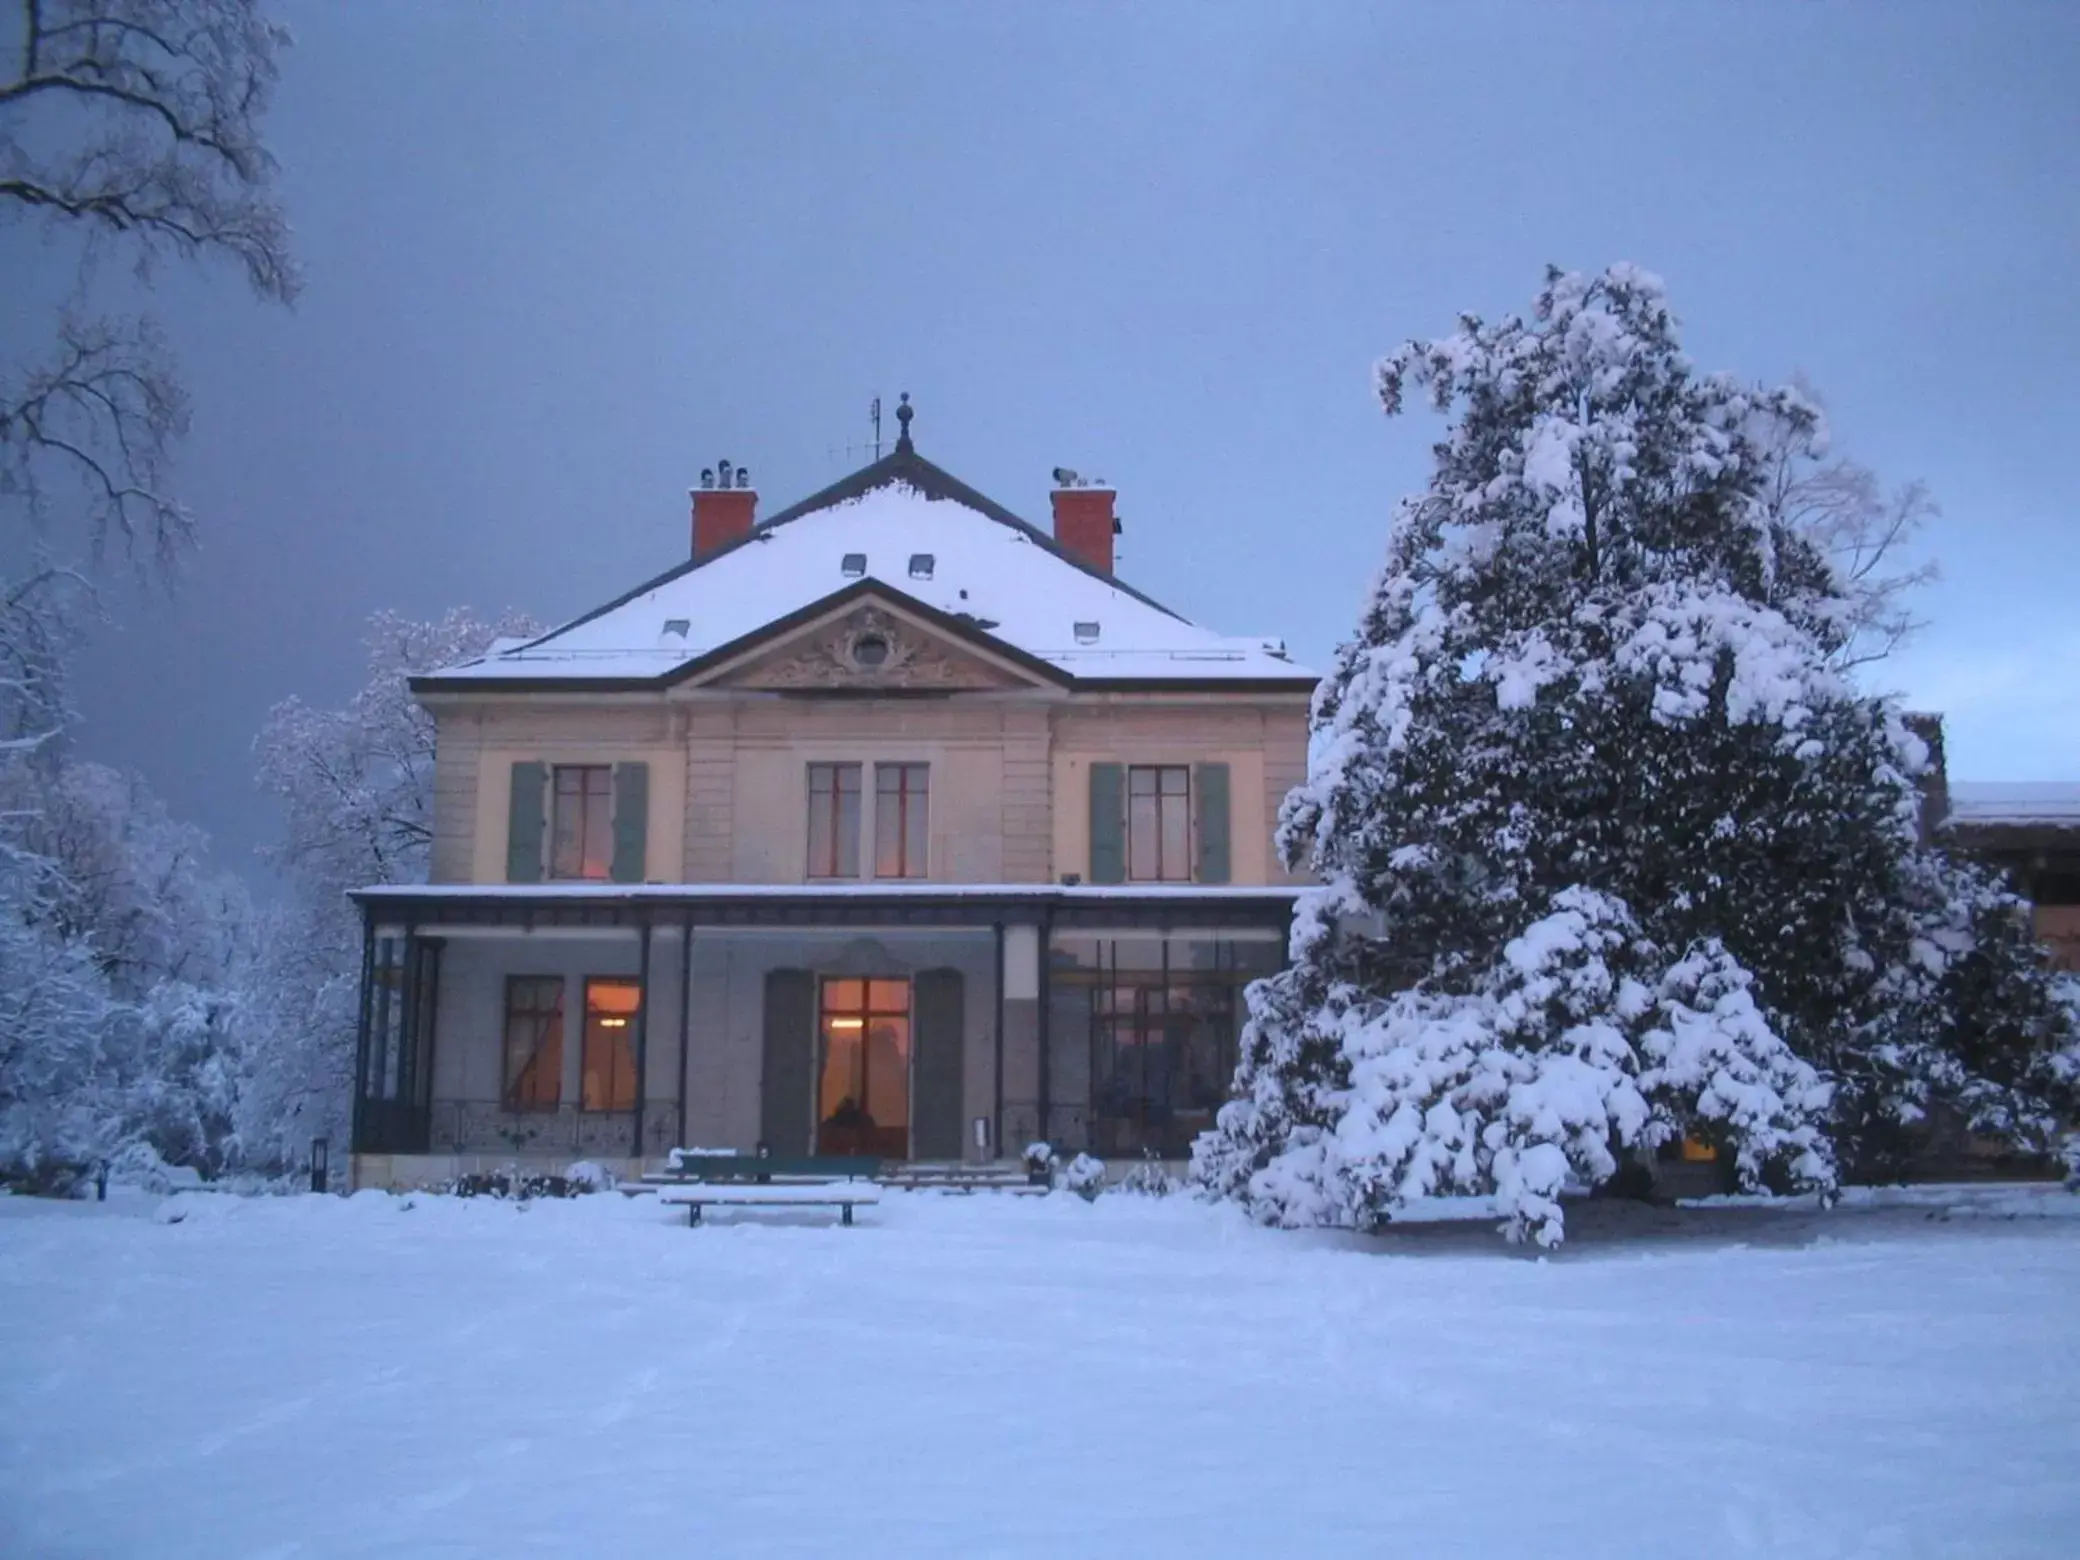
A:
[[[2043,1142],[2040,955],[1920,844],[1860,601],[1768,501],[1816,410],[1697,372],[1633,266],[1381,364],[1389,414],[1419,389],[1456,416],[1315,699],[1279,849],[1321,886],[1202,1186],[1360,1227],[1485,1194],[1556,1242],[1564,1181],[1679,1134],[1818,1190],[1934,1104]]]

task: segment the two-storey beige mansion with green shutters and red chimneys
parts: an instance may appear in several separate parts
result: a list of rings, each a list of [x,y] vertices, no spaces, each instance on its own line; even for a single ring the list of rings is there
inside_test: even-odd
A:
[[[1186,1152],[1315,674],[1113,574],[1113,493],[1030,524],[894,453],[414,682],[433,882],[360,894],[358,1184],[674,1146]]]

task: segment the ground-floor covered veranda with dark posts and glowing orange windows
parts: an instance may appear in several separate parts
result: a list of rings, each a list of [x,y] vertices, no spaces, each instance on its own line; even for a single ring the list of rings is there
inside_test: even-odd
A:
[[[356,1184],[761,1142],[1179,1159],[1294,892],[366,888]]]

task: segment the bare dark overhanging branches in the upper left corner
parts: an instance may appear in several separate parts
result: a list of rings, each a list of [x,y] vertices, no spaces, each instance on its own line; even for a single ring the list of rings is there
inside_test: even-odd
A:
[[[229,260],[275,302],[297,291],[260,121],[287,33],[258,0],[21,0],[0,29],[0,216],[127,254]],[[150,320],[64,314],[37,364],[0,366],[0,499],[171,562],[189,516],[166,491],[187,428]],[[73,505],[77,514],[73,512]]]

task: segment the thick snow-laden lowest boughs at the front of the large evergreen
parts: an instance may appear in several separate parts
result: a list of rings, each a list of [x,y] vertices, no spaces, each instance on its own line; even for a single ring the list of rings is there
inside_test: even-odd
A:
[[[1589,888],[1502,948],[1468,992],[1421,986],[1364,998],[1331,990],[1317,1015],[1333,1036],[1337,1084],[1315,1100],[1333,1127],[1306,1134],[1229,1192],[1269,1223],[1392,1219],[1435,1196],[1491,1196],[1512,1240],[1562,1236],[1560,1192],[1618,1171],[1614,1150],[1652,1150],[1685,1132],[1739,1146],[1745,1186],[1766,1171],[1830,1188],[1828,1090],[1770,1030],[1749,976],[1716,942],[1666,961],[1631,911]],[[1267,1057],[1246,1040],[1263,1071]],[[1250,1138],[1244,1092],[1200,1144],[1202,1181],[1221,1138]]]

